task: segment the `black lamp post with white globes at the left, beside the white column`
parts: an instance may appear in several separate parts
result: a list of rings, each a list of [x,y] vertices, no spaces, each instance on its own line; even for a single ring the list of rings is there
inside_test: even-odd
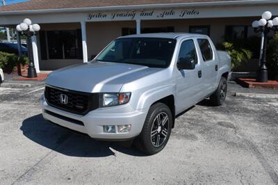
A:
[[[40,25],[33,24],[30,19],[26,18],[24,21],[20,24],[17,24],[17,31],[19,33],[22,33],[23,35],[26,35],[27,37],[27,49],[28,49],[28,58],[29,58],[29,64],[28,64],[28,78],[35,78],[37,77],[37,72],[35,71],[35,65],[34,65],[34,58],[33,58],[33,46],[32,46],[32,40],[31,37],[33,35],[37,35],[38,31],[40,31]],[[19,43],[21,44],[21,43]]]

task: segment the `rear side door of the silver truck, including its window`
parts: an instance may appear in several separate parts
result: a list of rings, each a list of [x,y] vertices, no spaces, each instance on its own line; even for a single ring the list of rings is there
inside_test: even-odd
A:
[[[212,93],[217,87],[218,60],[214,53],[214,48],[211,40],[207,38],[197,38],[199,50],[202,55],[201,61],[203,64],[202,76],[204,77],[204,96]]]

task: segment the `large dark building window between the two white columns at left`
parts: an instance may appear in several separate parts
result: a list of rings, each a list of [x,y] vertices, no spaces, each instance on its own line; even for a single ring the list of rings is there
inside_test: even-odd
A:
[[[42,60],[82,58],[80,30],[41,31]]]

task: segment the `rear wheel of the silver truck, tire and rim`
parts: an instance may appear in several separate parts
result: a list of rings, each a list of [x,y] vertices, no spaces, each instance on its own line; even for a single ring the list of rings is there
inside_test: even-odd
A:
[[[224,103],[226,95],[227,95],[227,79],[225,77],[221,77],[217,90],[215,90],[215,92],[209,98],[211,99],[212,104],[216,106],[220,106]]]

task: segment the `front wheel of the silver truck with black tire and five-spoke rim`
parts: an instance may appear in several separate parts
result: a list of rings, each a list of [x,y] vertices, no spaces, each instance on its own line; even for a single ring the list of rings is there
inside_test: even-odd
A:
[[[162,103],[156,103],[147,114],[141,134],[137,138],[139,150],[146,154],[156,154],[163,150],[172,130],[172,113]]]

